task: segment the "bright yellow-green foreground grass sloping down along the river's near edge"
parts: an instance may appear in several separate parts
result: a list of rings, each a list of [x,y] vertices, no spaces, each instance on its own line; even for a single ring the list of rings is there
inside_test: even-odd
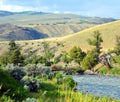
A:
[[[39,93],[31,93],[37,102],[120,102],[109,97],[96,97],[91,94],[64,90],[64,84],[56,84],[56,80],[46,80],[46,84]]]

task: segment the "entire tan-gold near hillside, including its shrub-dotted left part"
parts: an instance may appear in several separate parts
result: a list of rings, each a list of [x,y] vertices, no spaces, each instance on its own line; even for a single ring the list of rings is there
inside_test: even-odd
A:
[[[73,35],[68,35],[64,37],[55,37],[47,38],[41,40],[30,40],[30,41],[17,41],[21,45],[23,52],[34,51],[40,54],[42,52],[42,42],[49,41],[52,48],[57,47],[57,52],[60,51],[69,51],[73,46],[80,46],[83,50],[90,50],[92,47],[88,45],[87,39],[92,38],[93,31],[99,30],[102,34],[104,40],[102,47],[106,51],[112,49],[115,46],[115,37],[116,35],[120,36],[120,21],[115,21],[112,23],[102,24],[96,27],[89,28],[87,30],[78,32]],[[64,45],[56,46],[56,43],[59,42]],[[7,49],[8,42],[1,42],[0,44],[0,53],[3,53]],[[6,46],[6,47],[5,47]]]

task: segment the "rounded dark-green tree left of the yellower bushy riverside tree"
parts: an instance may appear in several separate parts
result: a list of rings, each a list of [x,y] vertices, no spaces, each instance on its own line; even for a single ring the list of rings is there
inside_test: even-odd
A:
[[[70,50],[70,57],[72,60],[74,60],[75,62],[77,62],[80,65],[80,62],[83,60],[83,58],[85,57],[85,52],[83,52],[81,50],[81,48],[74,46],[71,50]]]

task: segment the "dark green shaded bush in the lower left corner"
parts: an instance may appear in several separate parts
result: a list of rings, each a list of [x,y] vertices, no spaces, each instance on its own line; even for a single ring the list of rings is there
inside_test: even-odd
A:
[[[28,92],[15,80],[8,72],[0,70],[0,96],[3,94],[10,96],[12,99],[23,100],[27,97]]]

